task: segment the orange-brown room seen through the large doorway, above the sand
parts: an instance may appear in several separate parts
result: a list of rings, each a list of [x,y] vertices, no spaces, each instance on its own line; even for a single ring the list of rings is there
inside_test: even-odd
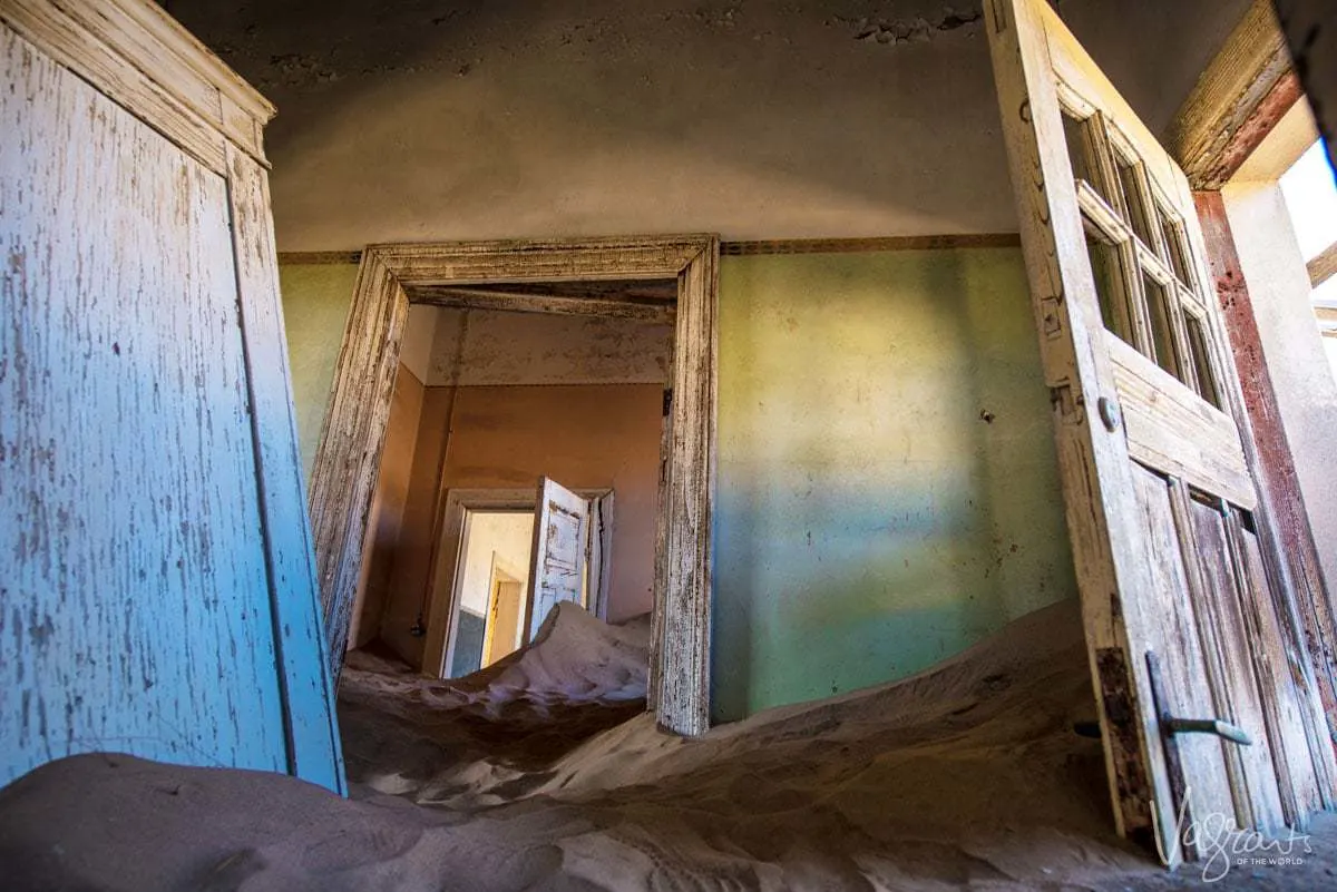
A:
[[[352,646],[380,640],[456,678],[531,640],[551,608],[529,606],[544,477],[600,503],[582,606],[612,622],[650,612],[674,349],[656,287],[639,286],[668,311],[642,319],[410,307]]]

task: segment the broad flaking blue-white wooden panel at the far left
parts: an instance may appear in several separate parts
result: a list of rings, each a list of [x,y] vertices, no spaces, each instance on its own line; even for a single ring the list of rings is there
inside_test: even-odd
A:
[[[0,783],[286,770],[227,184],[9,27],[0,68]]]

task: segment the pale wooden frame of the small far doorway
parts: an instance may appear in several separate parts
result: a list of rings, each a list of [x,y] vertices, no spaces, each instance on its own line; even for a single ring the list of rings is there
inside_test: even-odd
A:
[[[604,498],[612,495],[611,487],[574,489],[583,498]],[[464,557],[465,521],[469,511],[533,511],[539,505],[539,494],[533,489],[487,489],[463,487],[443,489],[441,511],[435,537],[431,584],[427,602],[427,641],[422,646],[422,674],[445,678],[445,669],[455,656],[456,624],[451,622],[460,604],[460,558]],[[615,510],[615,509],[614,509]],[[607,554],[607,551],[606,551]],[[594,613],[600,620],[607,614],[607,573],[600,580],[599,592],[594,594]],[[523,622],[523,620],[521,620]],[[528,638],[528,630],[525,630]]]

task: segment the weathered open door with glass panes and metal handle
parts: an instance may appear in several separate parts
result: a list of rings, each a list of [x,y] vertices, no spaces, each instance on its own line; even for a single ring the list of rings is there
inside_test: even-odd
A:
[[[1330,803],[1333,749],[1183,174],[1044,0],[985,0],[1115,821]]]

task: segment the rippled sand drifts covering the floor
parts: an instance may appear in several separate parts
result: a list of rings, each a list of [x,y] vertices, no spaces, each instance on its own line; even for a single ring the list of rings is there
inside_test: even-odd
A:
[[[640,714],[644,665],[644,624],[566,608],[528,650],[459,682],[356,656],[341,689],[349,800],[255,772],[62,760],[0,792],[0,885],[1202,885],[1112,836],[1099,741],[1072,730],[1094,714],[1072,602],[915,678],[694,741]],[[1262,884],[1337,879],[1320,864]]]

